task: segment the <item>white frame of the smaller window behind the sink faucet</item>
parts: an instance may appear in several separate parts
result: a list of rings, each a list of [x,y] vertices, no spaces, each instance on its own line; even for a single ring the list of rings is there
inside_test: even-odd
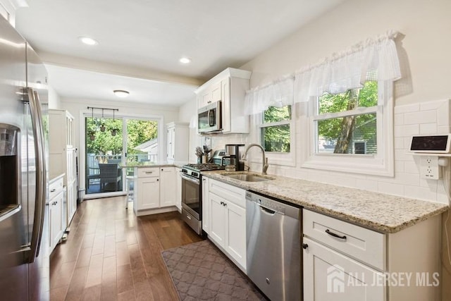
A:
[[[258,141],[261,146],[263,146],[263,141],[261,141],[261,128],[268,128],[270,126],[277,125],[290,125],[290,152],[265,152],[266,158],[268,158],[268,164],[273,165],[282,165],[282,166],[296,166],[296,156],[295,156],[295,104],[290,104],[291,106],[291,119],[289,121],[278,121],[273,123],[264,123],[264,112],[257,114],[257,135]],[[256,156],[257,158],[251,160],[255,163],[261,163],[260,156]]]

